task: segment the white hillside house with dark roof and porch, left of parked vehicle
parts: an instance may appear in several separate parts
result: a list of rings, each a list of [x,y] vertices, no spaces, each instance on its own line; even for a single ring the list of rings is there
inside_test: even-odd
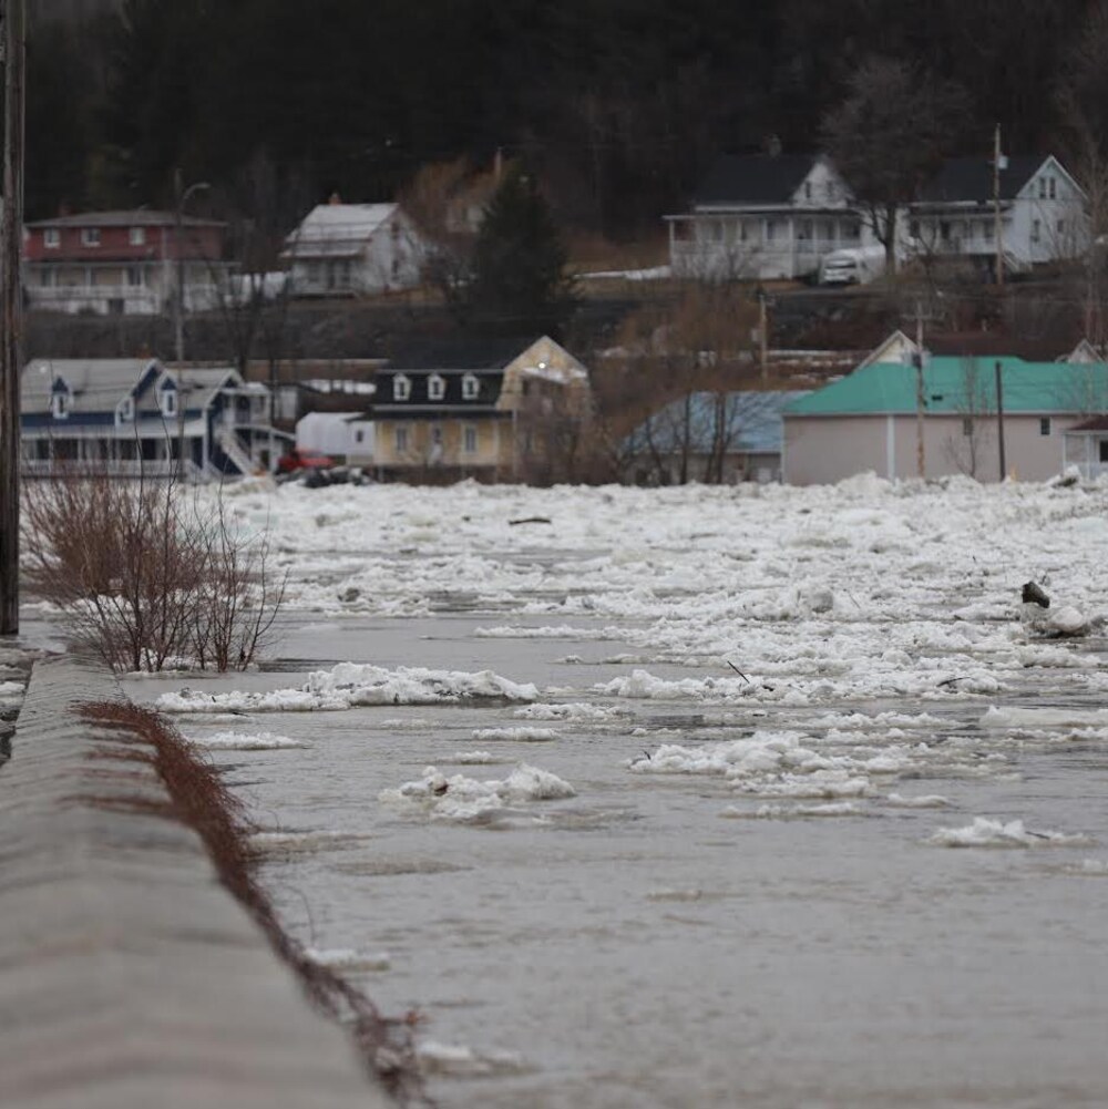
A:
[[[692,211],[665,222],[679,277],[805,277],[825,254],[876,242],[848,185],[821,154],[721,157]]]

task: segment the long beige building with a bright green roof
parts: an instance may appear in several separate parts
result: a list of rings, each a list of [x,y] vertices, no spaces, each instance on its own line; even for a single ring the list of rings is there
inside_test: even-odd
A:
[[[1105,363],[873,363],[785,406],[782,474],[791,485],[867,470],[1035,481],[1077,464],[1094,476],[1108,468],[1108,421],[1098,431],[1096,419],[1106,413]]]

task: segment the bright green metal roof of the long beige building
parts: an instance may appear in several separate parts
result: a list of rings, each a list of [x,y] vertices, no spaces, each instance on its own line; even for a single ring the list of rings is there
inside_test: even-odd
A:
[[[1000,366],[1006,413],[1108,411],[1108,365],[1023,358],[936,357],[924,365],[924,407],[935,415],[996,411]],[[916,410],[916,369],[875,363],[785,407],[785,416],[884,416]]]

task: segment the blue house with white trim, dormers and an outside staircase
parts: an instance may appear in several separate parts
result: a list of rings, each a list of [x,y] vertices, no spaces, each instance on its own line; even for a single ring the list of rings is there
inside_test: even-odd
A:
[[[292,438],[271,425],[270,390],[228,366],[37,358],[20,393],[23,472],[32,476],[61,467],[193,481],[255,474]]]

